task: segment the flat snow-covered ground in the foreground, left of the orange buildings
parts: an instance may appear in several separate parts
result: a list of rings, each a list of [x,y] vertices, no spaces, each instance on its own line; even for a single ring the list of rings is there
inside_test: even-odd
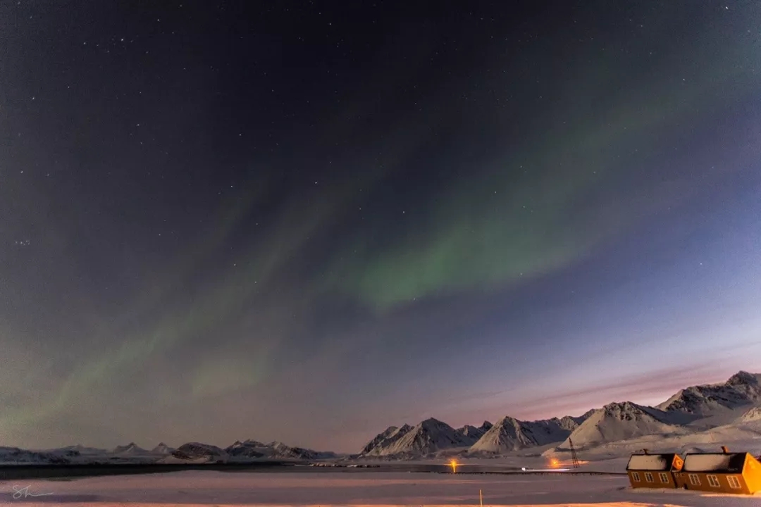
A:
[[[479,505],[479,491],[483,505],[755,507],[761,503],[759,496],[630,490],[622,475],[183,471],[71,481],[2,482],[0,505]],[[52,494],[24,496],[24,492]]]

